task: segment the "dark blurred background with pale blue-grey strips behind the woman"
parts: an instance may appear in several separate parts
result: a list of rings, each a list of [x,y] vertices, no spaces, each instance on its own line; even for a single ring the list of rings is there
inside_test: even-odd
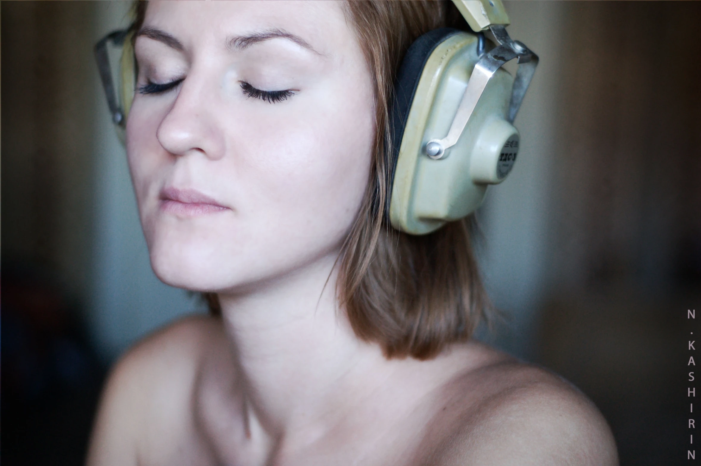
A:
[[[479,338],[578,385],[622,465],[692,464],[701,3],[505,3],[540,65],[519,163],[477,214],[505,315]],[[0,8],[2,460],[79,465],[109,366],[204,306],[151,272],[93,59],[128,2]]]

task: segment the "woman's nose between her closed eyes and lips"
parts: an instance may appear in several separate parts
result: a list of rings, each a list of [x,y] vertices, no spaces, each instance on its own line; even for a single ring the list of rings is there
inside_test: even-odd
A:
[[[207,90],[202,76],[188,76],[180,86],[175,102],[158,125],[158,142],[175,156],[201,153],[219,160],[224,156],[224,135],[212,113],[215,92]]]

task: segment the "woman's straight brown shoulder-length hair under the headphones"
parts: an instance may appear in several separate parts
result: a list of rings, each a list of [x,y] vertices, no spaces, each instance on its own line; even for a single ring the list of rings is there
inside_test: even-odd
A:
[[[135,2],[134,29],[141,27],[145,4]],[[444,0],[348,0],[346,18],[374,79],[377,131],[365,200],[339,257],[336,292],[359,338],[379,343],[386,357],[429,359],[467,341],[485,319],[488,301],[472,253],[472,217],[423,236],[388,225],[388,115],[409,45],[431,29],[468,26]],[[221,313],[216,294],[203,297],[213,314]]]

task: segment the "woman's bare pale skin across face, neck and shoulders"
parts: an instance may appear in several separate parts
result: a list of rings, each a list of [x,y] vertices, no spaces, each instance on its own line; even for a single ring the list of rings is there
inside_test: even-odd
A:
[[[127,124],[151,263],[223,317],[118,362],[88,465],[618,464],[596,407],[543,369],[477,342],[388,360],[353,334],[334,261],[374,101],[342,3],[151,2],[144,28],[139,86],[179,82],[137,93]]]

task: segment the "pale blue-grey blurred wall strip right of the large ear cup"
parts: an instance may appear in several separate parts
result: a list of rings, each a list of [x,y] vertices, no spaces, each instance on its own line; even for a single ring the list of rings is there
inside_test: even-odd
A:
[[[504,318],[482,339],[521,357],[532,357],[538,312],[548,293],[552,164],[557,146],[557,88],[562,77],[564,7],[557,1],[507,1],[512,39],[540,62],[515,125],[518,161],[503,183],[491,186],[477,212],[485,285]]]

